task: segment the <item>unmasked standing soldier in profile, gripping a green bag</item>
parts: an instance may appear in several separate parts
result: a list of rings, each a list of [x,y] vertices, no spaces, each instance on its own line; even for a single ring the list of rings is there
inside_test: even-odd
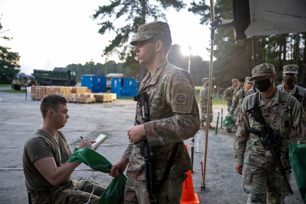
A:
[[[149,122],[144,123],[140,104],[136,105],[135,119],[140,122],[128,131],[129,145],[119,161],[110,170],[110,176],[126,169],[124,203],[150,203],[146,189],[144,157],[139,142],[147,138],[158,152],[154,158],[155,187],[165,172],[175,144],[178,149],[167,180],[158,189],[158,203],[179,203],[186,179],[185,172],[192,163],[184,140],[194,136],[200,129],[199,106],[194,95],[192,76],[185,70],[169,64],[167,55],[171,47],[169,25],[155,21],[141,25],[138,35],[130,44],[134,47],[140,65],[149,72],[140,84],[140,92],[147,92]]]

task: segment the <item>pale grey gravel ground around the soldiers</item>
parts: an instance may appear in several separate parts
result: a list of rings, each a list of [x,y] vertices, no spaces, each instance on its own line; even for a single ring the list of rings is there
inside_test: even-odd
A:
[[[21,169],[22,151],[26,138],[42,124],[39,101],[25,94],[5,93],[0,90],[0,168]],[[97,151],[111,163],[116,162],[128,143],[127,130],[133,125],[136,102],[128,99],[117,99],[107,103],[69,103],[70,118],[62,132],[72,150],[81,142],[80,136],[95,139],[100,133],[108,139]],[[213,106],[213,122],[216,126],[217,113],[226,106]],[[207,161],[205,171],[205,190],[202,187],[202,165],[205,153],[205,131],[195,135],[192,181],[194,192],[200,203],[246,203],[247,195],[241,189],[241,176],[236,173],[233,163],[233,136],[218,125],[218,132],[209,130],[207,143]],[[201,139],[199,152],[197,139]],[[191,139],[185,141],[191,152]],[[117,146],[103,146],[117,144]],[[3,148],[16,147],[16,148]],[[89,169],[81,164],[78,169]],[[74,171],[72,178],[95,180],[107,186],[112,177],[102,172]],[[0,203],[28,203],[22,170],[0,170]],[[303,203],[294,176],[291,179],[294,195],[287,196],[286,204]],[[14,198],[14,199],[12,199]]]

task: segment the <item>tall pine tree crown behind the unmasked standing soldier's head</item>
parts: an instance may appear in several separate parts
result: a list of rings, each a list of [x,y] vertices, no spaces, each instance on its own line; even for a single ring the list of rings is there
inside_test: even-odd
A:
[[[99,33],[101,35],[111,31],[116,33],[114,39],[110,40],[110,44],[103,50],[103,55],[108,57],[111,54],[118,54],[120,60],[131,66],[133,74],[136,67],[139,72],[139,64],[135,60],[136,54],[128,43],[136,37],[138,27],[145,24],[147,19],[152,21],[166,19],[161,9],[174,7],[179,11],[185,6],[182,0],[111,0],[109,5],[99,6],[92,15],[94,20],[98,17],[104,20],[98,23],[101,26]],[[117,19],[121,19],[121,24],[125,22],[124,26],[116,27]]]

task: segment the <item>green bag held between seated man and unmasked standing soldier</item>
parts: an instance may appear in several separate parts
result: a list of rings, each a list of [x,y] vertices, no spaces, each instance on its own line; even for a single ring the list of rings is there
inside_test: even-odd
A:
[[[84,149],[75,148],[73,154],[68,158],[68,162],[82,162],[92,169],[109,173],[112,168],[112,164],[103,157],[99,152],[84,147]],[[119,204],[122,202],[124,195],[126,176],[119,172],[119,175],[114,178],[103,192],[98,204]]]

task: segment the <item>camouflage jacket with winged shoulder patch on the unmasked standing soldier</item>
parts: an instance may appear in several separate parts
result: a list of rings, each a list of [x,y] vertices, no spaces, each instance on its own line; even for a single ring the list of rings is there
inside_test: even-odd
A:
[[[164,60],[153,76],[148,72],[141,82],[140,90],[142,88],[147,92],[150,119],[144,124],[145,135],[150,146],[157,149],[157,158],[154,159],[155,179],[161,180],[175,143],[179,143],[168,177],[175,178],[192,169],[183,141],[200,129],[199,107],[194,96],[192,77],[185,70]],[[139,102],[135,120],[143,124]],[[129,158],[126,175],[145,180],[144,158],[140,154],[139,144],[129,143],[122,156]]]

